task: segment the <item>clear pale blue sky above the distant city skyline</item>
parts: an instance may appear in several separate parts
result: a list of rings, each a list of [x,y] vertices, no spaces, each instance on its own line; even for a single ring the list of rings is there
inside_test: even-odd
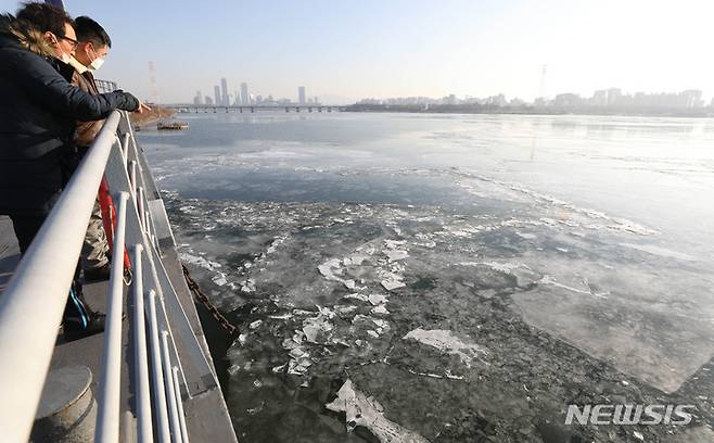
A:
[[[162,101],[232,93],[533,99],[594,89],[714,93],[714,7],[678,0],[66,0],[114,47],[99,77]],[[14,12],[16,1],[0,0]]]

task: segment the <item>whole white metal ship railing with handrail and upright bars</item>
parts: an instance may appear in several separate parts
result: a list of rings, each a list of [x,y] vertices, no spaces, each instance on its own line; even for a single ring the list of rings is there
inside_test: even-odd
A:
[[[125,251],[131,268],[129,346],[136,397],[127,429],[136,430],[139,442],[188,442],[183,401],[218,385],[162,262],[161,249],[175,242],[158,190],[128,114],[115,111],[0,298],[3,442],[26,442],[30,434],[102,177],[116,205],[116,224],[94,440],[119,441]]]

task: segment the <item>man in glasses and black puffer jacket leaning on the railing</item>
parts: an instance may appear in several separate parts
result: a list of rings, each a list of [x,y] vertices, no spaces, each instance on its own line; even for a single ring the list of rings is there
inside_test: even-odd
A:
[[[92,96],[72,86],[60,69],[76,45],[72,18],[49,4],[0,15],[0,214],[12,219],[23,254],[69,179],[76,122],[142,110],[130,93]],[[63,316],[67,339],[104,330],[104,314],[87,306],[78,275]]]

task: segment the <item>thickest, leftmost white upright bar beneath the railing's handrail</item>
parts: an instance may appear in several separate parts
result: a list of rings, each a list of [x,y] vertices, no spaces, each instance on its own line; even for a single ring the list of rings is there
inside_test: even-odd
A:
[[[119,390],[122,379],[122,304],[124,298],[124,233],[126,229],[128,192],[118,194],[118,214],[114,232],[114,251],[110,275],[109,309],[104,332],[104,355],[99,383],[99,412],[94,440],[119,441]]]

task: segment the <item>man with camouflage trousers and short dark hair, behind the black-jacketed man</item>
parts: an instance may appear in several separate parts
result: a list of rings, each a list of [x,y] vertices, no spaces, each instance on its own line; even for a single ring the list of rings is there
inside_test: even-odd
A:
[[[106,30],[87,16],[75,18],[77,48],[69,65],[74,67],[72,85],[81,88],[92,96],[99,94],[93,72],[104,63],[104,58],[112,48],[112,39]],[[77,145],[77,163],[87,153],[94,137],[99,134],[104,121],[77,122],[75,144]],[[102,224],[102,213],[99,203],[94,203],[92,215],[87,226],[85,243],[81,246],[81,262],[85,281],[106,280],[110,276],[110,249]]]

